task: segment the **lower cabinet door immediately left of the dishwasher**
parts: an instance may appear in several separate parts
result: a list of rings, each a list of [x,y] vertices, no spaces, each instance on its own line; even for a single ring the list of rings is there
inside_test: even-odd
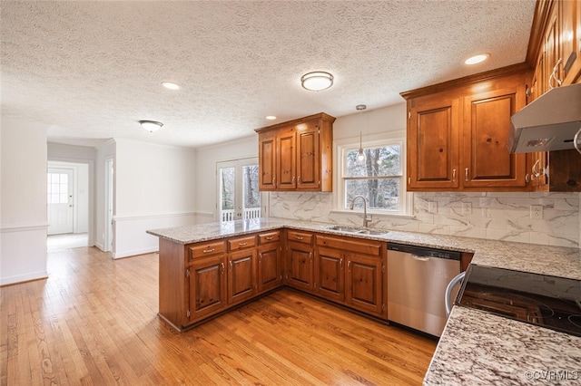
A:
[[[381,259],[350,254],[347,261],[345,301],[367,314],[385,317],[383,304],[383,264]]]

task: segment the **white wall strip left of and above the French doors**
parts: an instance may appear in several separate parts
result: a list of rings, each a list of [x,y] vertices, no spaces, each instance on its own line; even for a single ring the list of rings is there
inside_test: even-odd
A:
[[[216,163],[252,157],[258,157],[258,134],[196,151],[197,223],[209,223],[216,221],[217,218]]]

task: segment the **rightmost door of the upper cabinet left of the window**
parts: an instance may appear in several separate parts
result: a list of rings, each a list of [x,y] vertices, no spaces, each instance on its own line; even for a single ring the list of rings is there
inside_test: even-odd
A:
[[[297,188],[320,188],[319,124],[297,125]]]

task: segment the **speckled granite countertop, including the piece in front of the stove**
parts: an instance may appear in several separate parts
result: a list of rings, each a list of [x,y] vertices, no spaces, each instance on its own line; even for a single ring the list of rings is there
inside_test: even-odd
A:
[[[153,236],[190,244],[281,227],[349,235],[391,243],[474,253],[473,264],[581,280],[581,249],[561,246],[438,236],[389,230],[359,235],[329,229],[332,224],[282,218],[148,230]],[[454,306],[428,372],[425,385],[579,384],[581,337]]]

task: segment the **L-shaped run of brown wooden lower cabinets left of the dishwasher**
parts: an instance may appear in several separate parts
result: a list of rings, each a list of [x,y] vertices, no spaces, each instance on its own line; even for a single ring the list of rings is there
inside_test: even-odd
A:
[[[292,229],[186,246],[160,239],[159,314],[182,330],[289,285],[387,319],[386,246]]]

